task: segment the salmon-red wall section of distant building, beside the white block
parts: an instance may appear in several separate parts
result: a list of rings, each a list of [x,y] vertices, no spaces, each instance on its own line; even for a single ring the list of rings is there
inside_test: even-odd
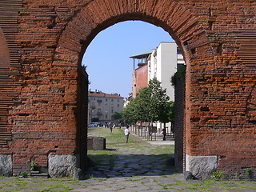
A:
[[[133,72],[133,98],[136,97],[138,91],[147,86],[148,69],[141,66]]]

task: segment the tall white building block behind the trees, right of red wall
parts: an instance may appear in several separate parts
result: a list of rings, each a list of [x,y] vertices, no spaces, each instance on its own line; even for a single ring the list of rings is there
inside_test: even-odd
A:
[[[157,78],[161,82],[170,101],[174,101],[174,87],[171,86],[170,78],[177,71],[178,64],[185,65],[181,51],[175,42],[161,42],[148,57],[148,81]],[[158,130],[162,129],[161,123],[158,123]],[[170,131],[170,123],[166,124],[167,131]]]

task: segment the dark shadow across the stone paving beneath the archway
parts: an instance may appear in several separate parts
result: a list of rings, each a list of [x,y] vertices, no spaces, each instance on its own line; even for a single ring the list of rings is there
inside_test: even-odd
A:
[[[174,167],[174,154],[90,154],[94,166],[87,178],[122,178],[164,176],[179,173]]]

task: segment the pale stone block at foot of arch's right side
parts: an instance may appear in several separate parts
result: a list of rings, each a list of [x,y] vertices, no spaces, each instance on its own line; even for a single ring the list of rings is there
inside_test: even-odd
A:
[[[194,178],[206,179],[218,168],[217,156],[190,156],[186,154],[186,171]]]

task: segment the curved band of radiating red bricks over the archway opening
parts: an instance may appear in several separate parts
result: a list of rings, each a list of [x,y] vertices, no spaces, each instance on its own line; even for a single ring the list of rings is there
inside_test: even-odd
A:
[[[175,1],[94,0],[78,10],[67,24],[59,38],[56,53],[76,55],[78,58],[100,31],[127,20],[141,20],[161,26],[177,42],[187,63],[197,59],[197,55],[192,55],[191,51],[199,47],[209,52],[204,54],[208,57],[206,60],[214,63],[205,31],[190,11]]]

